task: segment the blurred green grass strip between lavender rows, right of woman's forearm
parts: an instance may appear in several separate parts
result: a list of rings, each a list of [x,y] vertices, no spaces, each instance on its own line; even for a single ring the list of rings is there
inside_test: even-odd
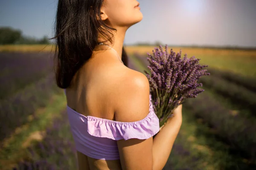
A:
[[[218,134],[207,125],[207,122],[195,118],[186,108],[183,108],[183,124],[180,130],[187,136],[189,144],[186,147],[196,148],[195,153],[200,154],[204,165],[214,170],[239,170],[250,167],[246,159],[232,153],[230,146],[218,138]],[[179,139],[175,142],[179,142]],[[207,166],[204,167],[205,170],[208,170]]]

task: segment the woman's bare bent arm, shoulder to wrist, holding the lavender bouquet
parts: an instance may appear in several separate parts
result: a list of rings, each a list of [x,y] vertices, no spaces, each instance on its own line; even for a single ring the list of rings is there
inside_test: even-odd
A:
[[[119,84],[120,83],[120,84]],[[142,73],[134,73],[118,82],[116,89],[115,120],[135,122],[149,111],[149,82]],[[119,87],[119,88],[118,88]],[[181,121],[178,116],[169,119],[165,127],[148,139],[118,140],[123,170],[162,170],[176,139]]]

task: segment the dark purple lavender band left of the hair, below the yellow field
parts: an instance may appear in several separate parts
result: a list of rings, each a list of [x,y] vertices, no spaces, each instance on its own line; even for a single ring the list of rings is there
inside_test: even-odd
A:
[[[8,98],[51,72],[53,72],[51,54],[1,53],[0,99]]]

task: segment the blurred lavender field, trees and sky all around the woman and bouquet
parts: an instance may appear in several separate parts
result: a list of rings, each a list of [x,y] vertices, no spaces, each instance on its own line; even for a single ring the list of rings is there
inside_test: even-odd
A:
[[[256,0],[138,0],[129,67],[168,45],[200,58],[205,91],[183,105],[165,170],[256,170]],[[0,2],[0,169],[75,170],[76,155],[52,56],[57,0]],[[145,73],[144,73],[145,74]]]

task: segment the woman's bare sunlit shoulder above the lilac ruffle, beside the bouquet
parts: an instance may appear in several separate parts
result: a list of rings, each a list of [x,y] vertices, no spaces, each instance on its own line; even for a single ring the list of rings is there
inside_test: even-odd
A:
[[[129,68],[121,71],[116,79],[114,100],[115,119],[120,122],[135,122],[149,112],[148,78]]]

